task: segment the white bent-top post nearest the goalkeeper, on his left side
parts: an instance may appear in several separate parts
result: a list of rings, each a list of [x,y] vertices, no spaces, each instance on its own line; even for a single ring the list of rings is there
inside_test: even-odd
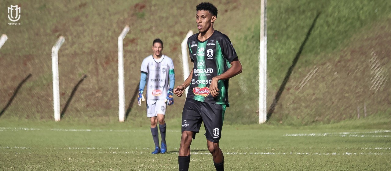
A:
[[[118,120],[125,121],[125,83],[124,83],[124,38],[129,32],[129,25],[126,25],[118,36]]]

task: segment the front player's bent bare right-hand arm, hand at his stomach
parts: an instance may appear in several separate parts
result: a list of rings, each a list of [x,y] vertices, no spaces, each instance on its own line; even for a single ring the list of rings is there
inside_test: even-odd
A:
[[[240,73],[242,73],[242,64],[240,63],[239,59],[236,58],[231,62],[231,68],[229,68],[226,72],[222,73],[221,75],[212,78],[212,83],[209,86],[210,94],[213,97],[217,97],[220,91],[217,88],[217,83],[219,82],[219,80],[230,79]]]

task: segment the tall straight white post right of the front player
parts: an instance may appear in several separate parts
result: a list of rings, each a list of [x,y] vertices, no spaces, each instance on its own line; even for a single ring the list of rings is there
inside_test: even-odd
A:
[[[266,27],[266,0],[261,0],[261,19],[259,35],[259,103],[258,123],[267,119],[266,83],[267,83],[267,27]]]

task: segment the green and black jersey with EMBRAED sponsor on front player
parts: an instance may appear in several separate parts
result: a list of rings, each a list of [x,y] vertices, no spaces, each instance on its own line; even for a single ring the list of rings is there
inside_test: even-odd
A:
[[[198,40],[198,34],[187,40],[190,59],[194,63],[193,77],[188,90],[187,98],[214,104],[228,103],[228,79],[219,80],[220,94],[213,97],[209,92],[212,78],[226,72],[231,62],[238,58],[230,39],[219,31],[205,41]]]

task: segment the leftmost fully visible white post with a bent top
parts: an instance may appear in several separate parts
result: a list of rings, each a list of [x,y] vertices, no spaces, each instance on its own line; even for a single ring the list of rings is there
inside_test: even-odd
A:
[[[53,72],[53,109],[54,109],[54,121],[60,121],[60,87],[58,76],[58,50],[63,45],[65,38],[60,36],[52,47],[52,72]]]

